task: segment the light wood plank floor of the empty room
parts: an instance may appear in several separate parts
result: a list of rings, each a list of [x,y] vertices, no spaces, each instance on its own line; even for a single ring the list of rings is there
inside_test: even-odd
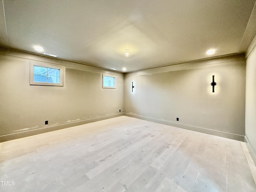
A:
[[[247,158],[243,142],[121,116],[1,143],[0,191],[255,192]]]

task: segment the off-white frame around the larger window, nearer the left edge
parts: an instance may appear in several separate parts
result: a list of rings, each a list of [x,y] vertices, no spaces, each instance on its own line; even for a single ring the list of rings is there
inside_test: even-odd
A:
[[[60,70],[60,83],[34,82],[34,66]],[[63,67],[45,62],[30,62],[30,85],[63,86]]]

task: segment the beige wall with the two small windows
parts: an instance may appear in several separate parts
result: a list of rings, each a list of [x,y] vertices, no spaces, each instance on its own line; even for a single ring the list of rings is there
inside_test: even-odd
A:
[[[30,85],[30,61],[63,66],[64,86]],[[116,75],[116,89],[102,88],[102,73]],[[122,115],[123,83],[122,73],[2,49],[0,141]]]

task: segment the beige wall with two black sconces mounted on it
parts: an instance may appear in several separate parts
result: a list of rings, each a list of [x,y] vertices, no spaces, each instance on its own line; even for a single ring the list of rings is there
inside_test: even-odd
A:
[[[124,77],[124,110],[128,116],[244,140],[245,70],[244,55],[236,55],[131,72]]]

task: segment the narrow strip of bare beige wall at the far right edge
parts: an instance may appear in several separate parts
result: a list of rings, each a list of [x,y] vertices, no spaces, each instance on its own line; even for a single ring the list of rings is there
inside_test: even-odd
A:
[[[256,163],[256,36],[248,48],[246,59],[245,135]]]

